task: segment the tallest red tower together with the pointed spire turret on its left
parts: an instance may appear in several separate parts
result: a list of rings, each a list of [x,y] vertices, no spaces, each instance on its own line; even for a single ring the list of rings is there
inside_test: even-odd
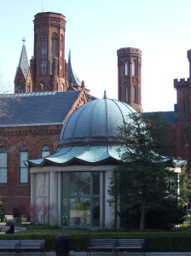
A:
[[[29,67],[23,44],[14,92],[65,91],[65,16],[52,12],[39,13],[33,21],[34,55]]]

